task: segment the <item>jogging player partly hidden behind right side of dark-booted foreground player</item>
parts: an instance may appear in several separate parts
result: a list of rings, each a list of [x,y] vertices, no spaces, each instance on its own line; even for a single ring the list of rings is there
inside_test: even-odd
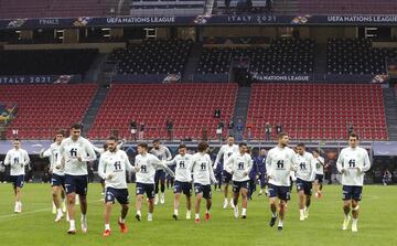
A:
[[[299,195],[299,220],[309,217],[312,184],[315,177],[313,156],[305,151],[304,143],[298,143],[297,191]]]

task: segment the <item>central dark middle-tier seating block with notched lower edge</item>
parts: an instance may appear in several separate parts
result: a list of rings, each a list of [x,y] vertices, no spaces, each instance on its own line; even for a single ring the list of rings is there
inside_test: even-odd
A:
[[[261,74],[309,74],[314,67],[313,40],[275,39],[269,46],[205,47],[197,73],[228,73],[232,62],[249,61],[249,72]]]

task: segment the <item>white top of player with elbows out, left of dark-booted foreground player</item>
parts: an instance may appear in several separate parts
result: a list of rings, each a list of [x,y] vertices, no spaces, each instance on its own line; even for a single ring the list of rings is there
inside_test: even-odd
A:
[[[248,153],[234,153],[226,161],[226,171],[233,173],[233,181],[248,181],[253,168],[253,158]]]

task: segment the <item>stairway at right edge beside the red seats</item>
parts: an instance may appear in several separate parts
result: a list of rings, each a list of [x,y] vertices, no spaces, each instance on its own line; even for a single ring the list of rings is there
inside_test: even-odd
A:
[[[397,140],[397,97],[393,88],[384,88],[384,105],[388,140]]]

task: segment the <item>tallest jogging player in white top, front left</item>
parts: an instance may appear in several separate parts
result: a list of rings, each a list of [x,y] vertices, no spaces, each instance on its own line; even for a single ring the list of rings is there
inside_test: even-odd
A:
[[[65,190],[67,197],[67,212],[69,216],[69,229],[67,234],[76,233],[75,225],[75,197],[79,195],[82,211],[82,232],[88,232],[87,225],[87,164],[96,160],[92,143],[81,136],[82,126],[74,124],[71,127],[71,136],[61,143],[56,169],[65,169]]]

